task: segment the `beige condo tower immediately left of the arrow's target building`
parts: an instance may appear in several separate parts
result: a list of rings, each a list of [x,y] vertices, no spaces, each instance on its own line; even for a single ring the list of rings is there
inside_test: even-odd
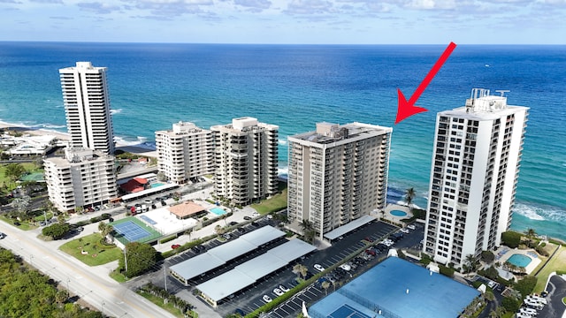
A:
[[[279,126],[241,117],[210,130],[215,143],[216,195],[245,205],[277,193]]]

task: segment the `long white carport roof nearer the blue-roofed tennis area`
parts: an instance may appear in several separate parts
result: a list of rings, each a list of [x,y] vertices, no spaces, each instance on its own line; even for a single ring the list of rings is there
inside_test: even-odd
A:
[[[291,239],[287,243],[273,247],[265,254],[246,261],[226,273],[216,276],[203,284],[196,285],[201,296],[212,307],[226,297],[240,292],[251,284],[255,284],[264,276],[282,269],[292,261],[311,253],[317,247],[305,243],[301,239]]]

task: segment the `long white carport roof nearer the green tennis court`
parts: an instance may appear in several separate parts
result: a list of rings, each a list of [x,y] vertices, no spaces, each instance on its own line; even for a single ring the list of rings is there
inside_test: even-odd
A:
[[[257,248],[284,236],[285,232],[267,225],[221,246],[210,248],[206,253],[196,255],[187,261],[173,265],[169,270],[173,277],[177,278],[181,283],[188,285],[189,280],[201,276],[210,270],[218,269],[218,267],[225,265],[228,261],[255,251]]]

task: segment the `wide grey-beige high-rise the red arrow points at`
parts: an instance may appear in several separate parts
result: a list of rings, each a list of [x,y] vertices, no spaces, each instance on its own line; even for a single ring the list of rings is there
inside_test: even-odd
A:
[[[317,235],[386,206],[390,127],[318,123],[288,138],[289,221],[309,220]]]

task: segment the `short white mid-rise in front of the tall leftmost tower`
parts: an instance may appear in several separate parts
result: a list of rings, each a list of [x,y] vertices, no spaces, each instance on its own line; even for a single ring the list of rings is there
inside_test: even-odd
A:
[[[43,161],[50,201],[60,211],[108,203],[118,197],[114,157],[87,148],[67,148],[65,158]]]

